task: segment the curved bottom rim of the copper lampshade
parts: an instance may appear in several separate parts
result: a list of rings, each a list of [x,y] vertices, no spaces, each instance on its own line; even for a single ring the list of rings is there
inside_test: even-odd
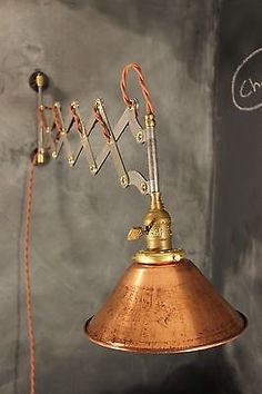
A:
[[[84,324],[84,333],[92,343],[103,346],[103,347],[107,347],[107,348],[110,348],[110,349],[113,349],[113,351],[130,352],[130,353],[151,353],[151,354],[189,353],[189,352],[203,351],[203,349],[208,349],[211,347],[218,347],[218,346],[224,345],[224,344],[238,338],[248,327],[248,318],[241,312],[239,312],[239,311],[235,311],[235,312],[240,315],[240,317],[243,321],[243,326],[238,332],[238,334],[235,334],[233,336],[230,335],[230,336],[224,337],[218,342],[211,342],[211,343],[195,346],[195,347],[184,347],[184,348],[170,347],[170,348],[157,349],[157,348],[133,347],[133,346],[128,347],[122,344],[115,344],[112,342],[102,342],[102,341],[93,339],[88,333],[88,326],[89,326],[90,322],[92,321],[93,316],[91,316],[87,321],[87,323]]]

